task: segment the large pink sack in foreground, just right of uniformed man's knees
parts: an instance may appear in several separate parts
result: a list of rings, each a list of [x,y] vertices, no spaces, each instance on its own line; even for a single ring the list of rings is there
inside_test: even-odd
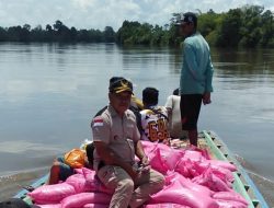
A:
[[[148,204],[173,203],[192,208],[218,208],[217,203],[209,196],[201,196],[196,192],[182,187],[174,181],[162,190],[151,196]]]

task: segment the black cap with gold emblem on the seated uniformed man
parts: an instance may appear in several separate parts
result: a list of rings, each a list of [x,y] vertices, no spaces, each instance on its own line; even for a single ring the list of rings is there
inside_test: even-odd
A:
[[[123,77],[113,77],[110,79],[111,93],[130,92],[133,94],[133,83]]]

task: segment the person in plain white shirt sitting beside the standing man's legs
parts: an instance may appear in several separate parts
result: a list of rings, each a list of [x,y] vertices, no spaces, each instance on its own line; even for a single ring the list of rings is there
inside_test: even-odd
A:
[[[172,95],[169,95],[164,106],[169,114],[169,131],[172,139],[185,139],[187,131],[182,129],[181,111],[180,111],[180,93],[179,88],[173,91]]]

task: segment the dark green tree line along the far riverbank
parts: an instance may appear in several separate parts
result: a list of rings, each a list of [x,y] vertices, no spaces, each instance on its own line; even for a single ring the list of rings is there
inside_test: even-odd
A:
[[[197,10],[198,11],[198,10]],[[137,21],[124,21],[117,32],[111,26],[104,31],[77,30],[57,20],[45,28],[0,26],[0,42],[42,43],[116,43],[119,45],[179,46],[182,37],[175,22],[180,13],[173,13],[163,25],[151,25]],[[206,13],[198,11],[198,31],[215,47],[274,47],[273,13],[262,5],[244,5],[228,12]]]

